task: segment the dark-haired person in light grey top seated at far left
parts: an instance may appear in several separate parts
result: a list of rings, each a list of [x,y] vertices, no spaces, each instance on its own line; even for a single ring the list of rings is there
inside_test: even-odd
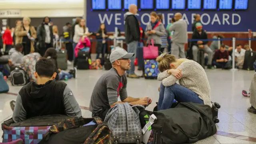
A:
[[[22,49],[23,49],[23,46],[22,44],[16,44],[15,45],[15,51],[12,52],[10,58],[12,60],[12,64],[14,67],[18,67],[22,64],[24,64],[22,58],[23,58],[23,54],[22,54]]]

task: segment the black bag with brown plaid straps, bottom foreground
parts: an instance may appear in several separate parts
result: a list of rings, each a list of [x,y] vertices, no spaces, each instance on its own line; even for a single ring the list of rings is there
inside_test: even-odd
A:
[[[89,123],[95,123],[87,125]],[[39,144],[111,144],[111,131],[100,118],[70,118],[51,126]]]

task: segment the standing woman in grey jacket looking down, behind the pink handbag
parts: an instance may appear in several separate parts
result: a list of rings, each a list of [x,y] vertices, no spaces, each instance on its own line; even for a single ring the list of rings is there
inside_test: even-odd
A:
[[[161,36],[165,34],[164,24],[159,21],[159,17],[156,12],[150,13],[150,23],[148,23],[145,31],[146,36],[148,36],[147,44],[151,44],[151,40],[154,40],[154,46],[158,47],[159,55],[161,54],[162,40]]]

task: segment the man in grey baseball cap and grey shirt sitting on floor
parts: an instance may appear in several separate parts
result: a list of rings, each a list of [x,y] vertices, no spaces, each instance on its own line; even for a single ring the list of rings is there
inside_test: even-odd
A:
[[[132,56],[134,56],[134,53],[128,53],[122,48],[118,48],[110,54],[110,62],[113,68],[99,78],[92,91],[90,101],[92,117],[99,116],[104,120],[108,110],[117,103],[128,102],[131,105],[148,105],[152,102],[151,98],[148,97],[132,98],[127,94],[125,71],[131,68],[130,58]],[[118,102],[119,96],[122,102]]]

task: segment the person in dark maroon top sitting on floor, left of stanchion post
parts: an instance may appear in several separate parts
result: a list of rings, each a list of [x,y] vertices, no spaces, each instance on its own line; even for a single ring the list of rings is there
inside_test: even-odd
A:
[[[228,51],[225,45],[222,45],[219,50],[216,50],[212,60],[212,64],[217,68],[224,68],[228,62]]]

